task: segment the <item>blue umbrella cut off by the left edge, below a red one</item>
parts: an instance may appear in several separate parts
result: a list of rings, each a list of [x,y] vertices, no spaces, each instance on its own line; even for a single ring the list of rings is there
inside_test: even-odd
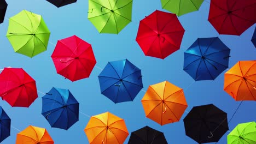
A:
[[[10,136],[10,118],[0,106],[0,142]]]

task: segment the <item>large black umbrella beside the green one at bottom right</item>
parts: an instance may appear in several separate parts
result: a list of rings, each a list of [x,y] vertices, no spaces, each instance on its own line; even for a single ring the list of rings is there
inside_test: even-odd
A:
[[[186,135],[198,143],[218,142],[229,130],[227,114],[213,104],[194,106],[183,122]]]

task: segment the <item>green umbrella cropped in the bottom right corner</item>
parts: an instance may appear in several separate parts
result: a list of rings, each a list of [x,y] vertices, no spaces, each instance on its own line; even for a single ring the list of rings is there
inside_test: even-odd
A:
[[[240,123],[228,135],[228,144],[255,144],[256,123]]]

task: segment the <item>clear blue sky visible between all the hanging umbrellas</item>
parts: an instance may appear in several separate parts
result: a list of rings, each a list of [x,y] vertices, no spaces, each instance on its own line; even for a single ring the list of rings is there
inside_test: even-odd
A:
[[[214,104],[219,109],[228,113],[228,120],[231,118],[236,107],[240,103],[235,101],[223,91],[224,73],[220,74],[214,81],[197,81],[183,71],[183,53],[194,43],[197,38],[219,37],[223,43],[231,49],[229,68],[238,61],[255,60],[256,49],[251,43],[251,37],[255,25],[248,28],[240,37],[234,35],[219,35],[207,21],[210,3],[203,2],[199,11],[178,17],[181,21],[185,33],[182,40],[181,49],[174,52],[164,60],[144,56],[144,53],[136,43],[136,35],[139,20],[153,13],[156,9],[166,11],[161,8],[160,0],[135,0],[133,1],[132,22],[129,23],[118,35],[99,34],[92,23],[87,19],[88,1],[78,0],[77,3],[65,7],[56,8],[53,4],[45,0],[6,0],[8,3],[7,13],[4,23],[0,24],[0,69],[4,67],[23,68],[30,74],[37,83],[40,92],[48,92],[52,87],[66,88],[71,91],[79,101],[79,110],[86,115],[94,116],[103,112],[111,112],[125,119],[129,133],[140,129],[146,125],[164,132],[168,143],[196,143],[185,135],[183,118],[180,122],[159,125],[146,118],[141,104],[144,92],[138,93],[132,102],[114,104],[100,93],[100,85],[97,76],[101,70],[94,68],[88,79],[75,82],[65,80],[56,70],[51,60],[57,40],[77,35],[92,45],[96,57],[96,66],[104,68],[109,61],[129,59],[142,70],[142,80],[146,91],[149,85],[162,81],[169,81],[174,85],[184,89],[190,111],[193,106]],[[210,1],[210,0],[208,0]],[[19,53],[15,53],[8,39],[5,37],[8,29],[8,18],[18,14],[22,9],[30,10],[40,14],[51,31],[50,44],[48,50],[39,55],[29,58]],[[7,102],[0,100],[0,105],[11,118],[11,135],[5,139],[3,144],[15,143],[18,130],[24,130],[28,125],[46,128],[55,143],[89,143],[84,133],[84,128],[89,121],[89,117],[79,113],[79,122],[70,129],[62,130],[51,128],[50,124],[41,115],[42,93],[38,93],[38,98],[29,108],[11,107]],[[255,121],[256,111],[255,101],[245,101],[229,124],[230,130],[234,129],[238,123]],[[16,129],[15,129],[16,128]],[[227,132],[219,143],[226,143]],[[130,136],[130,135],[129,135]],[[127,137],[125,143],[127,143]]]

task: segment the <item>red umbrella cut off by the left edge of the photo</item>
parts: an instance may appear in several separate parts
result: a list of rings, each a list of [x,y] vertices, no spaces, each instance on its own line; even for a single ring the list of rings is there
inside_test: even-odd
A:
[[[38,97],[36,81],[22,68],[4,68],[0,74],[0,97],[11,106],[29,107]]]

